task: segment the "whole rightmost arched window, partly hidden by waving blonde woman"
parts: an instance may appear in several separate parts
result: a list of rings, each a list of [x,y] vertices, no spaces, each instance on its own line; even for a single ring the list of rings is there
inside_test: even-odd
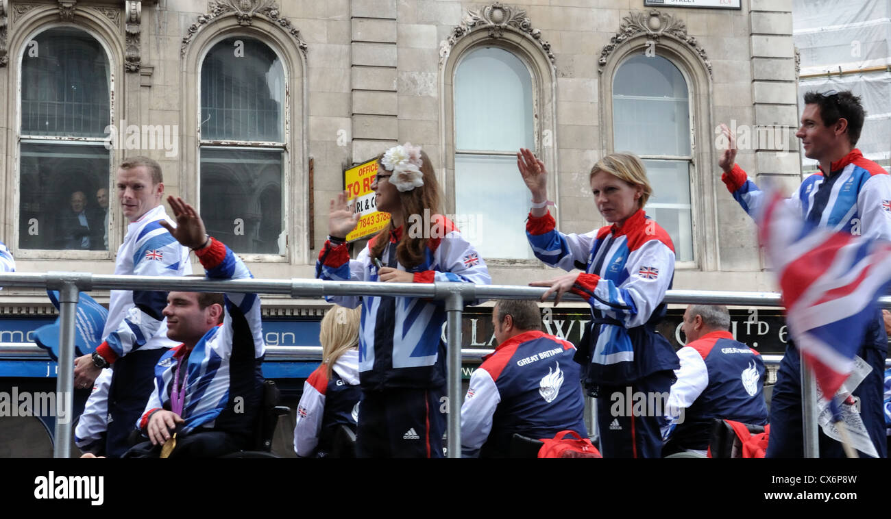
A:
[[[678,262],[694,261],[690,196],[691,110],[687,81],[674,63],[635,54],[613,80],[613,149],[643,159],[653,187],[645,207],[674,241]]]

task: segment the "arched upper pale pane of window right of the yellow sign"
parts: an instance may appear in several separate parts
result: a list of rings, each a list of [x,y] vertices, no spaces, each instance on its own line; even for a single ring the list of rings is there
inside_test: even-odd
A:
[[[535,148],[526,65],[502,49],[470,53],[454,75],[454,118],[457,150]]]

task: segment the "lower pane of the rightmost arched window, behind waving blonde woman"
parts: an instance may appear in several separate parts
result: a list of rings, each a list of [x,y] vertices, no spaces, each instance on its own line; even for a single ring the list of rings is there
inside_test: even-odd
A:
[[[686,160],[644,160],[643,164],[653,187],[645,207],[647,215],[668,231],[677,261],[693,261],[690,163]]]

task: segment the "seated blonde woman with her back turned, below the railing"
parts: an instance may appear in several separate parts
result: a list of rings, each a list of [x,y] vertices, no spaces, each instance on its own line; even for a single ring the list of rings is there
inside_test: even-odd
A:
[[[301,458],[323,458],[337,428],[356,432],[359,388],[359,310],[334,305],[319,332],[322,364],[303,385],[294,426],[294,451]]]

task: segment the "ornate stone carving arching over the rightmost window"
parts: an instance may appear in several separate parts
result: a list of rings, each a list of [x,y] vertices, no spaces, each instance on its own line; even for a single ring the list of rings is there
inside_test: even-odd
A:
[[[622,19],[616,35],[609,38],[609,44],[604,45],[601,50],[599,71],[603,73],[609,54],[616,50],[618,45],[640,35],[647,36],[653,42],[658,42],[660,37],[667,36],[690,45],[705,63],[708,75],[712,75],[712,62],[708,61],[706,50],[699,45],[696,37],[687,34],[687,25],[682,20],[675,20],[671,14],[658,12],[656,9],[650,12],[629,12],[628,16]]]

